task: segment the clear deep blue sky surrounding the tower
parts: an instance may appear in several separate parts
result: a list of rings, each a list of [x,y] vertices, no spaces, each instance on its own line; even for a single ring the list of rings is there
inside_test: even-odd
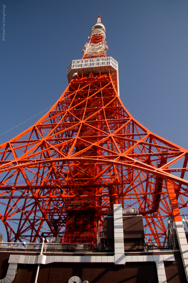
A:
[[[2,133],[50,107],[64,92],[67,65],[81,59],[100,13],[107,56],[119,62],[125,107],[188,148],[187,0],[0,0],[0,4],[1,19],[6,5],[5,41],[0,29],[0,144],[42,114]]]

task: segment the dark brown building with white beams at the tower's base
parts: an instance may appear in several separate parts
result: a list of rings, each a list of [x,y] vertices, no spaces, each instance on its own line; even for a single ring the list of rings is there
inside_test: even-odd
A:
[[[38,283],[186,282],[179,249],[143,243],[143,230],[136,210],[128,212],[114,204],[113,213],[109,211],[105,219],[104,243],[98,246],[57,239],[44,246],[2,242],[0,283],[32,283],[38,265]]]

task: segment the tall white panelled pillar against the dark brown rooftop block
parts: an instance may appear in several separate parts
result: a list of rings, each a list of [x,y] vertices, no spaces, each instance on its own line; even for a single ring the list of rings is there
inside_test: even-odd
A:
[[[122,205],[114,204],[114,257],[115,264],[125,264]]]

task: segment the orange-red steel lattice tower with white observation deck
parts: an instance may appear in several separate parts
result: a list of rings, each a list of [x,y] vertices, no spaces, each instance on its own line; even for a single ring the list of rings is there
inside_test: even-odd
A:
[[[164,219],[181,221],[188,151],[124,107],[105,37],[99,15],[83,58],[68,66],[69,85],[59,100],[0,145],[0,217],[8,241],[63,235],[64,242],[97,242],[114,203],[139,208],[145,237],[159,246],[167,241]]]

